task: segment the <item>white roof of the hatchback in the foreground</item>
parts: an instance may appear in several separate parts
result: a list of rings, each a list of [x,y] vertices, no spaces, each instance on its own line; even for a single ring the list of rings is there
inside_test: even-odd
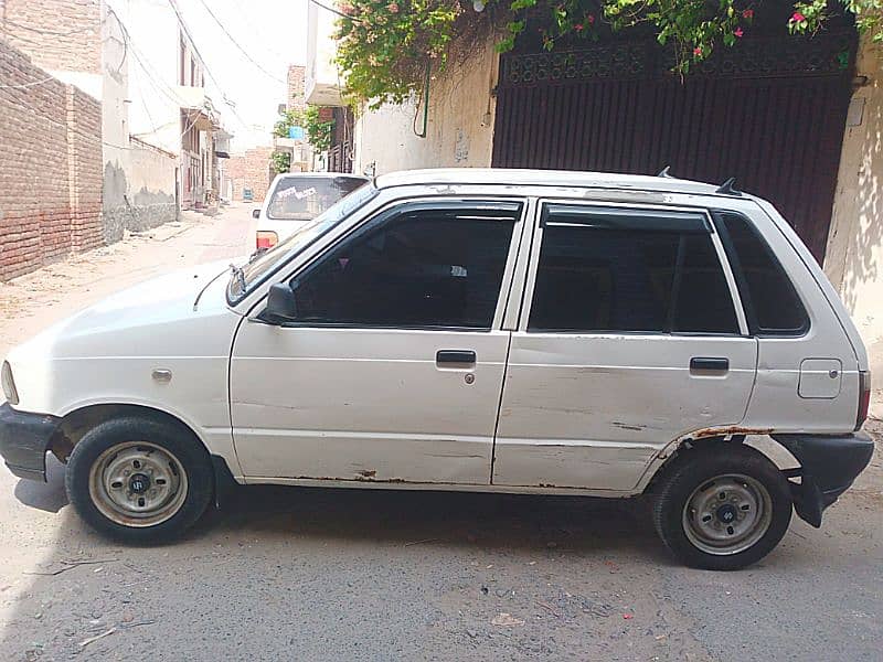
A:
[[[658,191],[714,195],[720,184],[706,184],[670,177],[582,172],[574,170],[519,170],[509,168],[433,168],[403,170],[381,174],[379,189],[406,185],[492,184],[509,186],[558,186],[585,189],[617,189],[626,191]]]

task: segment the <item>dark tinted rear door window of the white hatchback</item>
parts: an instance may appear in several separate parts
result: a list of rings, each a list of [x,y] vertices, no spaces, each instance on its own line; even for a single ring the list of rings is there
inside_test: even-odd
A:
[[[530,331],[738,333],[702,214],[549,205]]]

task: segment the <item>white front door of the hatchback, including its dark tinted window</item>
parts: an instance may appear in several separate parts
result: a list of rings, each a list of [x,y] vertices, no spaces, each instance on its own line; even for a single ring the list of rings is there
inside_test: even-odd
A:
[[[288,279],[297,319],[246,320],[234,342],[244,473],[488,484],[521,214],[520,201],[400,203]]]

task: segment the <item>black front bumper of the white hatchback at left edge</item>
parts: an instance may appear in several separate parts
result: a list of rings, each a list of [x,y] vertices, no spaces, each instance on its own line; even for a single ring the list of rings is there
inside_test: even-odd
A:
[[[0,405],[0,456],[19,478],[46,480],[46,451],[61,419]]]

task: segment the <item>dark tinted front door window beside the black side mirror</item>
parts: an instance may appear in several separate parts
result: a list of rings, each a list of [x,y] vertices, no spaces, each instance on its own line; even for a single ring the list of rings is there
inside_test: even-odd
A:
[[[384,215],[291,281],[297,320],[490,329],[520,204]]]

